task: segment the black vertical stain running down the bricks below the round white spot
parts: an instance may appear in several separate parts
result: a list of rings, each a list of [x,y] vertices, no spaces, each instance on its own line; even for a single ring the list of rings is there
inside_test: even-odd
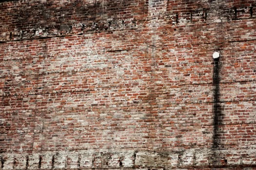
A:
[[[213,134],[213,148],[219,147],[219,128],[221,119],[221,105],[219,101],[219,58],[214,58],[214,73],[213,73],[213,86],[214,86],[214,99],[213,99],[213,116],[214,116],[214,134]]]

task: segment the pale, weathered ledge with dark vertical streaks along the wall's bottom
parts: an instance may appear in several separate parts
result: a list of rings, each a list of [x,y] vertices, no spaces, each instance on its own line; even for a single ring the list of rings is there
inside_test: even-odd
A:
[[[236,150],[188,149],[177,151],[45,151],[1,153],[0,170],[220,168],[256,165],[255,147]]]

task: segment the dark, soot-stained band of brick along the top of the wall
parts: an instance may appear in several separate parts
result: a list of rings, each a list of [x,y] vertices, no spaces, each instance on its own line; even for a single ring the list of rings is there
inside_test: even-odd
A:
[[[2,3],[0,41],[138,29],[144,27],[148,23],[146,20],[152,18],[158,18],[159,24],[167,23],[175,27],[177,24],[225,22],[256,17],[256,6],[253,3],[220,7],[216,10],[208,2],[201,7],[202,2],[198,1],[198,5],[182,0],[180,2],[183,6],[167,1],[165,7],[163,1],[159,4],[155,2],[157,5],[151,6],[138,0],[109,1],[106,4],[100,1],[91,4],[77,1],[58,5],[53,1],[40,2],[27,2],[32,7],[19,1]]]

